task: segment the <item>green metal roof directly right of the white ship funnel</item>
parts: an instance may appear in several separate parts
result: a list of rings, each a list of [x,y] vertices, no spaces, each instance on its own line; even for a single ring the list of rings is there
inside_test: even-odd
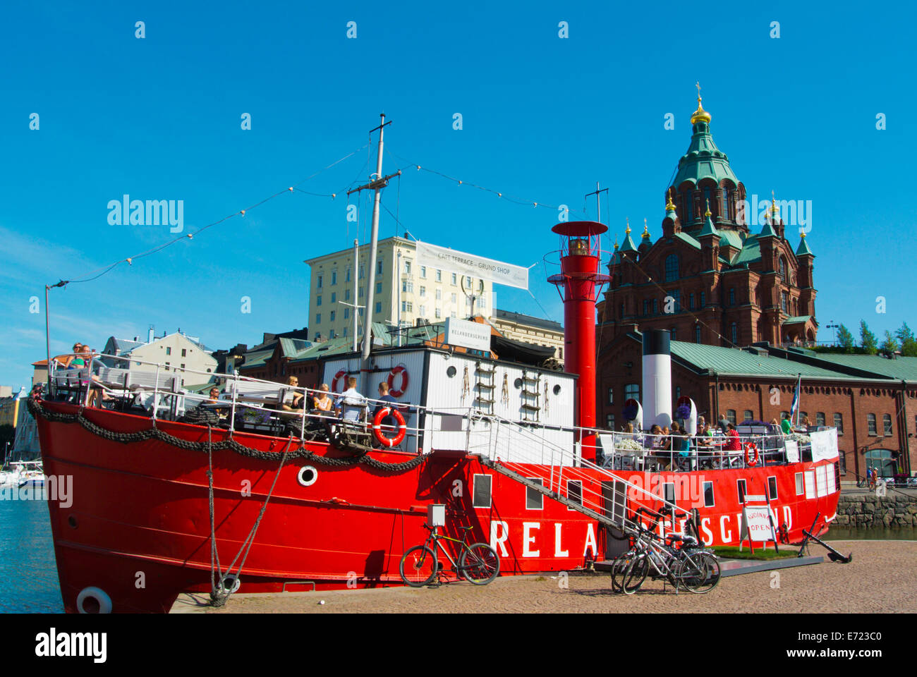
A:
[[[803,377],[856,380],[852,376],[813,367],[801,362],[784,360],[768,355],[755,355],[747,350],[706,346],[684,341],[671,342],[672,355],[699,369],[728,375],[784,376],[801,374]],[[862,379],[859,379],[862,380]]]

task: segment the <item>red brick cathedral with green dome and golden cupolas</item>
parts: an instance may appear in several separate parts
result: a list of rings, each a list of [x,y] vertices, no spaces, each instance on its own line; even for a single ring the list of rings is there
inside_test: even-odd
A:
[[[639,329],[717,346],[814,341],[814,255],[801,235],[793,250],[779,207],[746,214],[746,187],[716,147],[710,114],[691,116],[691,145],[668,189],[662,237],[644,225],[640,244],[624,231],[599,305],[602,342]],[[757,202],[757,201],[756,201]]]

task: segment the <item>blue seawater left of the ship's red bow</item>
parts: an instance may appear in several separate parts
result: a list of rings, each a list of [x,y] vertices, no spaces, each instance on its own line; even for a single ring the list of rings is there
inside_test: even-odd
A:
[[[0,501],[0,613],[63,613],[46,501]]]

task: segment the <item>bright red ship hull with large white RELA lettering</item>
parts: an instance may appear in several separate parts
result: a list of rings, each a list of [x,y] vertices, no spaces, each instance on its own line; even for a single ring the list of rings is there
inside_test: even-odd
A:
[[[42,405],[51,412],[78,410],[59,403]],[[96,409],[85,409],[83,416],[116,432],[150,427],[149,418],[142,416]],[[164,421],[156,425],[177,438],[207,440],[206,427]],[[116,612],[168,612],[178,594],[210,591],[206,453],[155,438],[127,444],[109,441],[79,424],[41,416],[38,427],[45,474],[72,476],[71,505],[49,500],[68,612],[77,610],[78,596],[91,587],[104,591]],[[227,432],[214,429],[212,435],[217,442]],[[398,564],[403,551],[425,539],[426,506],[434,503],[449,505],[457,522],[474,527],[472,540],[491,543],[501,556],[503,574],[576,569],[605,553],[604,530],[596,520],[547,497],[540,508],[527,507],[525,485],[463,451],[433,452],[405,472],[294,460],[278,474],[283,450],[288,443],[290,449],[298,448],[298,440],[240,432],[233,438],[276,457],[260,460],[228,449],[213,452],[215,540],[224,572],[243,550],[276,477],[241,572],[241,589],[247,593],[401,584]],[[307,446],[316,455],[347,458],[327,444]],[[389,463],[414,458],[397,451],[373,451],[372,456]],[[316,471],[309,485],[298,480],[305,464]],[[714,482],[716,505],[699,507],[700,526],[708,545],[720,545],[738,542],[742,506],[737,497],[730,499],[737,480],[746,480],[752,494],[767,491],[768,477],[776,477],[778,498],[771,506],[795,542],[819,513],[815,528],[823,533],[836,510],[836,492],[817,499],[796,495],[796,473],[813,465],[661,472],[648,481],[698,486]],[[534,466],[532,471],[531,476],[543,474]],[[601,492],[602,479],[608,480],[607,474],[579,473],[584,493]],[[629,481],[647,480],[638,473],[618,474]],[[488,507],[473,506],[475,475],[492,476]],[[92,610],[88,603],[83,609]]]

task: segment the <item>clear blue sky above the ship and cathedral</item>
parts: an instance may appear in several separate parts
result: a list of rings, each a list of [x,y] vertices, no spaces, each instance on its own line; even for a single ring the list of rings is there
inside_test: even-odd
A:
[[[181,327],[212,348],[307,326],[304,259],[368,238],[368,203],[355,227],[340,193],[371,171],[368,131],[383,110],[393,120],[383,171],[405,170],[383,204],[419,239],[530,265],[557,249],[557,211],[410,163],[572,210],[600,181],[611,189],[602,205],[611,239],[625,217],[637,231],[646,217],[655,239],[662,194],[691,137],[695,81],[748,194],[812,200],[819,338],[833,338],[831,320],[853,328],[864,318],[878,335],[902,320],[913,327],[914,15],[911,5],[852,3],[831,12],[716,2],[7,3],[0,383],[28,383],[30,362],[44,356],[45,283],[174,237],[163,226],[109,225],[109,200],[183,200],[189,232],[359,150],[300,186],[337,199],[282,194],[94,282],[51,291],[52,352],[75,340],[101,349],[108,336],[144,335],[150,324]],[[348,21],[357,39],[347,39]],[[558,38],[560,21],[568,39]],[[772,21],[779,39],[769,37]],[[33,113],[38,130],[29,129]],[[250,130],[240,128],[244,113]],[[667,113],[674,130],[664,129]],[[594,202],[588,208],[594,218]],[[396,232],[384,210],[380,229]],[[537,302],[501,287],[497,305],[562,319],[545,276],[539,263]]]

